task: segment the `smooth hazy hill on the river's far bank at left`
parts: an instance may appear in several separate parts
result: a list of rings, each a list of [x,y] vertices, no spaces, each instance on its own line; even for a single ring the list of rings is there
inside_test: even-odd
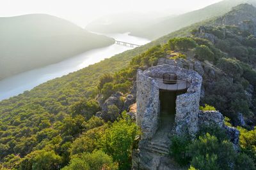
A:
[[[113,43],[44,14],[0,18],[0,37],[0,80]]]

